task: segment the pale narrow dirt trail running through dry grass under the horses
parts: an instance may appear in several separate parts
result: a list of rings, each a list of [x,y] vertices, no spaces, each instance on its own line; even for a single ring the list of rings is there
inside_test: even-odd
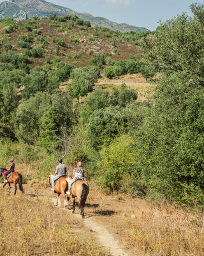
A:
[[[50,200],[54,202],[55,195],[53,192],[49,191],[48,188],[31,188],[29,186],[24,185],[24,189],[25,196],[41,199],[45,197],[50,197]],[[92,200],[88,200],[87,202],[91,201]],[[64,200],[62,200],[61,198],[61,206],[63,204]],[[71,216],[71,218],[76,219],[76,223],[80,223],[80,227],[76,226],[77,228],[76,230],[73,230],[73,232],[86,232],[85,234],[87,234],[87,236],[91,234],[91,236],[96,238],[99,244],[101,244],[102,247],[106,248],[106,250],[110,251],[110,253],[112,253],[113,256],[133,256],[132,253],[126,252],[126,250],[122,248],[120,241],[112,234],[112,232],[108,230],[107,227],[105,227],[103,221],[101,222],[99,220],[100,218],[99,216],[97,216],[96,211],[92,211],[92,209],[96,208],[97,206],[97,204],[87,204],[89,210],[87,211],[87,214],[85,214],[85,219],[82,219],[80,214],[72,214],[71,211],[64,209],[64,207],[61,209],[63,212],[62,214],[64,214],[65,217],[68,214],[68,216]]]

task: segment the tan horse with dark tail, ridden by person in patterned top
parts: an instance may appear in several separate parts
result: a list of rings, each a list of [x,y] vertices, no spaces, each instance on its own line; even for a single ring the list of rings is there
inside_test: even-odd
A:
[[[71,180],[71,178],[68,178],[67,180]],[[77,197],[79,212],[82,215],[82,218],[84,218],[85,201],[87,200],[88,195],[89,195],[89,184],[85,180],[77,180],[71,186],[71,196],[68,197],[68,201],[70,198],[73,198],[72,212],[75,213],[75,198]]]

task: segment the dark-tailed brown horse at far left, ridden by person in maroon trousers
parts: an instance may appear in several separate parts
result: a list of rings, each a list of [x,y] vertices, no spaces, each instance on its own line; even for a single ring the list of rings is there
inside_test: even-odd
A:
[[[3,175],[5,172],[7,172],[7,170],[5,168],[0,168],[0,177],[1,175]],[[6,184],[8,183],[9,185],[9,191],[11,189],[11,183],[13,183],[13,185],[15,186],[15,192],[14,195],[16,195],[17,193],[17,183],[19,186],[20,191],[22,191],[22,193],[24,193],[24,188],[22,186],[22,175],[18,172],[13,172],[11,173],[11,176],[7,178],[8,182],[4,182],[4,186],[6,186]],[[3,186],[3,188],[4,188]]]

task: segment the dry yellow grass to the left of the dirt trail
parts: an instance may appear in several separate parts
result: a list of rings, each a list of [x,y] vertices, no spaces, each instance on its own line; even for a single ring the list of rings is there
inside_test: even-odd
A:
[[[47,196],[0,191],[0,255],[110,255],[85,232],[82,221],[50,204]]]

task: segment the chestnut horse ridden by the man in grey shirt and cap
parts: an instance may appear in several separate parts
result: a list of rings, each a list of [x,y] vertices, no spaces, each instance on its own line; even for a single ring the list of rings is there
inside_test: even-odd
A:
[[[48,176],[48,184],[51,186],[52,179],[55,175],[50,174]],[[59,199],[59,196],[62,195],[64,197],[64,207],[68,208],[68,196],[66,195],[66,191],[68,191],[68,180],[66,177],[60,177],[59,180],[55,183],[55,196],[56,196],[56,202],[55,206],[60,206],[61,202]]]

